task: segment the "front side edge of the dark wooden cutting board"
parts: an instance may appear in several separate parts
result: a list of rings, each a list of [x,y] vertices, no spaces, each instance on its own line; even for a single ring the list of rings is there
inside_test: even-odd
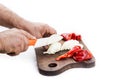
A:
[[[95,58],[93,57],[91,60],[92,60],[92,62],[89,64],[87,64],[88,61],[84,61],[84,62],[80,62],[80,63],[79,62],[71,63],[71,64],[68,64],[68,65],[64,66],[63,68],[58,69],[56,71],[45,71],[43,69],[40,69],[39,67],[38,67],[38,70],[39,70],[40,74],[42,74],[44,76],[55,76],[55,75],[61,74],[62,72],[67,71],[69,69],[73,69],[73,68],[92,68],[95,66]],[[39,66],[39,64],[37,64],[37,65]]]

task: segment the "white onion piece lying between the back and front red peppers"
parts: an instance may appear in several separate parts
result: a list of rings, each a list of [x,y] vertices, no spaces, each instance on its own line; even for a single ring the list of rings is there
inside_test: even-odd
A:
[[[80,46],[81,48],[83,48],[83,45],[80,44],[77,40],[68,40],[68,41],[63,43],[60,50],[70,50],[74,46]]]

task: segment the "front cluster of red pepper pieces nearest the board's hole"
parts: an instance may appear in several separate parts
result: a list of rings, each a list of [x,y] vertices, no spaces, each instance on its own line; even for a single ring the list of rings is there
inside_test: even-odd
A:
[[[56,60],[59,61],[61,59],[70,58],[70,57],[72,57],[75,61],[82,62],[91,59],[93,56],[90,53],[90,51],[83,50],[81,49],[80,46],[75,46],[65,54],[58,56]]]

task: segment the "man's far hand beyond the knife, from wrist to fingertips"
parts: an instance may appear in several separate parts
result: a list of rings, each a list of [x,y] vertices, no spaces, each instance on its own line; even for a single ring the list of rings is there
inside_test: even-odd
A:
[[[52,27],[50,27],[47,24],[43,23],[28,23],[26,24],[26,30],[36,38],[41,38],[41,37],[48,37],[51,34],[55,34],[56,30]]]

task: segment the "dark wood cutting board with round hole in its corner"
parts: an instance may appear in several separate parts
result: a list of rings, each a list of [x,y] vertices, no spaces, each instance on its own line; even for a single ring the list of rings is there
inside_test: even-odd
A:
[[[83,41],[80,41],[84,45],[83,49],[88,49]],[[36,48],[36,59],[38,70],[41,74],[46,76],[58,75],[71,68],[91,68],[95,66],[95,58],[83,62],[76,62],[72,58],[56,61],[55,58],[64,54],[67,51],[57,52],[56,54],[43,54],[45,49],[43,47]]]

